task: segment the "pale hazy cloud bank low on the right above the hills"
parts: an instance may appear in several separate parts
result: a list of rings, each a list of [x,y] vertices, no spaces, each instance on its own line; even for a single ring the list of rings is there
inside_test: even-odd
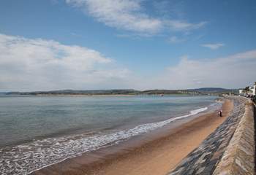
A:
[[[167,89],[241,88],[255,82],[255,67],[256,50],[216,59],[192,60],[184,56],[149,85]]]

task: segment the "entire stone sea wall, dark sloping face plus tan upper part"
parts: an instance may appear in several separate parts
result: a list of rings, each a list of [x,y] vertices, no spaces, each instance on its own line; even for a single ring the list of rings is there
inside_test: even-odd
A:
[[[248,98],[229,97],[230,116],[168,175],[255,174],[255,106]]]

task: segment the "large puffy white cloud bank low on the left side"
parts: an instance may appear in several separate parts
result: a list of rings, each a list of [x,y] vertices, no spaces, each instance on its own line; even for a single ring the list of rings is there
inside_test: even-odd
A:
[[[95,50],[52,40],[0,34],[0,52],[0,90],[121,88],[130,74]]]

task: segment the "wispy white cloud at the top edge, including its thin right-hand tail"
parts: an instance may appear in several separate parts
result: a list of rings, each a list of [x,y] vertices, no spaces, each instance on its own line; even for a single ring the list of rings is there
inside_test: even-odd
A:
[[[143,12],[143,0],[66,0],[67,4],[83,9],[105,25],[139,33],[156,34],[165,29],[189,31],[206,22],[187,23],[181,20],[162,20]]]

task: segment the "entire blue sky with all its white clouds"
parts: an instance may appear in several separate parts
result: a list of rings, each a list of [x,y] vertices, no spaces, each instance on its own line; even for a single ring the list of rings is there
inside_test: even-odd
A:
[[[0,91],[244,88],[255,0],[1,0]]]

